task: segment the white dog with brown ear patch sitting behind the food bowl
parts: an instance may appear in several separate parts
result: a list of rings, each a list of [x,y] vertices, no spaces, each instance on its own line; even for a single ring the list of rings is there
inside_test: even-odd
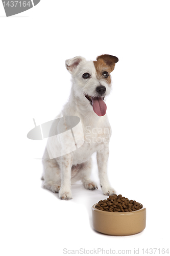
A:
[[[104,195],[114,194],[114,189],[110,186],[107,177],[111,127],[106,115],[104,99],[111,91],[110,73],[117,61],[117,57],[106,54],[98,56],[96,61],[87,61],[81,56],[65,61],[66,68],[72,75],[72,88],[62,115],[80,118],[84,143],[79,148],[77,147],[77,150],[53,159],[49,157],[49,151],[45,148],[42,160],[43,187],[54,193],[59,192],[60,199],[72,199],[71,184],[77,180],[82,180],[86,189],[98,188],[90,179],[91,155],[94,152],[96,152],[102,191]],[[57,129],[58,123],[54,121],[51,131],[54,132]],[[74,135],[75,133],[76,131]],[[66,146],[69,145],[69,139],[67,136],[65,140],[58,140],[56,150],[57,145],[60,148],[64,146],[64,143]],[[55,150],[51,143],[48,143],[48,150]]]

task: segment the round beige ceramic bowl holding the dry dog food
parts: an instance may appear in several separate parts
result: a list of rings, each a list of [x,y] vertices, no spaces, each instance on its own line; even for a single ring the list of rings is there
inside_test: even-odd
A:
[[[95,230],[112,236],[129,236],[141,232],[146,226],[146,208],[130,212],[110,212],[92,206]]]

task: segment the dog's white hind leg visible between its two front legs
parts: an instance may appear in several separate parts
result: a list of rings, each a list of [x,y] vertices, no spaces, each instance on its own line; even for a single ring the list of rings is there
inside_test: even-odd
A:
[[[82,164],[81,168],[81,176],[82,176],[82,182],[86,189],[94,190],[95,188],[98,188],[95,182],[93,182],[90,179],[91,175],[91,166],[92,166],[92,159],[89,158],[88,161],[84,162]]]

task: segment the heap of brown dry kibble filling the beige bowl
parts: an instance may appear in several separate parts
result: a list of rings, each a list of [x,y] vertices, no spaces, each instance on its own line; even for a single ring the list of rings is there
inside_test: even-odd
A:
[[[109,196],[108,199],[99,201],[95,208],[104,211],[121,212],[121,211],[134,211],[143,207],[142,204],[136,201],[129,200],[122,195]]]

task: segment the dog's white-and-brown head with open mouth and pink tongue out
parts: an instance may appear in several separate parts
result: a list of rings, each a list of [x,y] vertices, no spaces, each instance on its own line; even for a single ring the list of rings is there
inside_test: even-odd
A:
[[[81,56],[65,61],[72,75],[75,96],[81,98],[85,106],[91,105],[98,116],[106,114],[104,98],[110,93],[110,73],[117,61],[117,57],[108,54],[98,56],[95,61],[87,61]]]

